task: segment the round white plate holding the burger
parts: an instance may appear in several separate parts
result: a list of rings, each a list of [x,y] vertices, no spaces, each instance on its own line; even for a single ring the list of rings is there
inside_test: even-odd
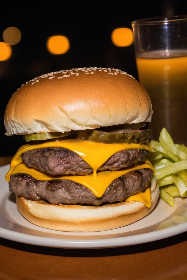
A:
[[[0,237],[5,239],[54,248],[96,249],[141,244],[187,231],[187,198],[176,198],[174,207],[159,199],[148,216],[115,230],[72,233],[38,227],[17,210],[15,195],[4,178],[8,169],[9,165],[0,167]]]

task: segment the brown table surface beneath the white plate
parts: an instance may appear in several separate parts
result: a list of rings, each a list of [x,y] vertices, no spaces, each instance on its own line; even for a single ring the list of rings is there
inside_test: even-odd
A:
[[[0,158],[0,165],[10,157]],[[107,249],[59,249],[0,238],[0,280],[187,279],[187,233]]]

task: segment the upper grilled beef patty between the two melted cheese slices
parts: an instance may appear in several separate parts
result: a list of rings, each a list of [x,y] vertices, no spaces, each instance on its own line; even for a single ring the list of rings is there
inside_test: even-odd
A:
[[[98,170],[117,171],[134,163],[144,161],[144,149],[123,150],[112,155]],[[51,175],[88,175],[93,169],[75,152],[65,148],[52,147],[29,150],[21,155],[29,167]]]

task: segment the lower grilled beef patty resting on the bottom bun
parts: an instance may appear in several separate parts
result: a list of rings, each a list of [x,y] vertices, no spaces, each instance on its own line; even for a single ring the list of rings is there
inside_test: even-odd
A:
[[[38,181],[28,174],[11,175],[11,192],[31,200],[45,200],[51,204],[93,204],[123,201],[126,197],[143,192],[150,184],[153,171],[149,168],[131,171],[115,179],[102,197],[97,198],[85,186],[71,180]]]

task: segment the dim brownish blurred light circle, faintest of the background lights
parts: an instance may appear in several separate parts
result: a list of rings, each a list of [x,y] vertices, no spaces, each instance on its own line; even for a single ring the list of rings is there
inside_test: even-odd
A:
[[[3,40],[9,45],[16,45],[21,40],[21,31],[17,27],[8,27],[3,32]]]

